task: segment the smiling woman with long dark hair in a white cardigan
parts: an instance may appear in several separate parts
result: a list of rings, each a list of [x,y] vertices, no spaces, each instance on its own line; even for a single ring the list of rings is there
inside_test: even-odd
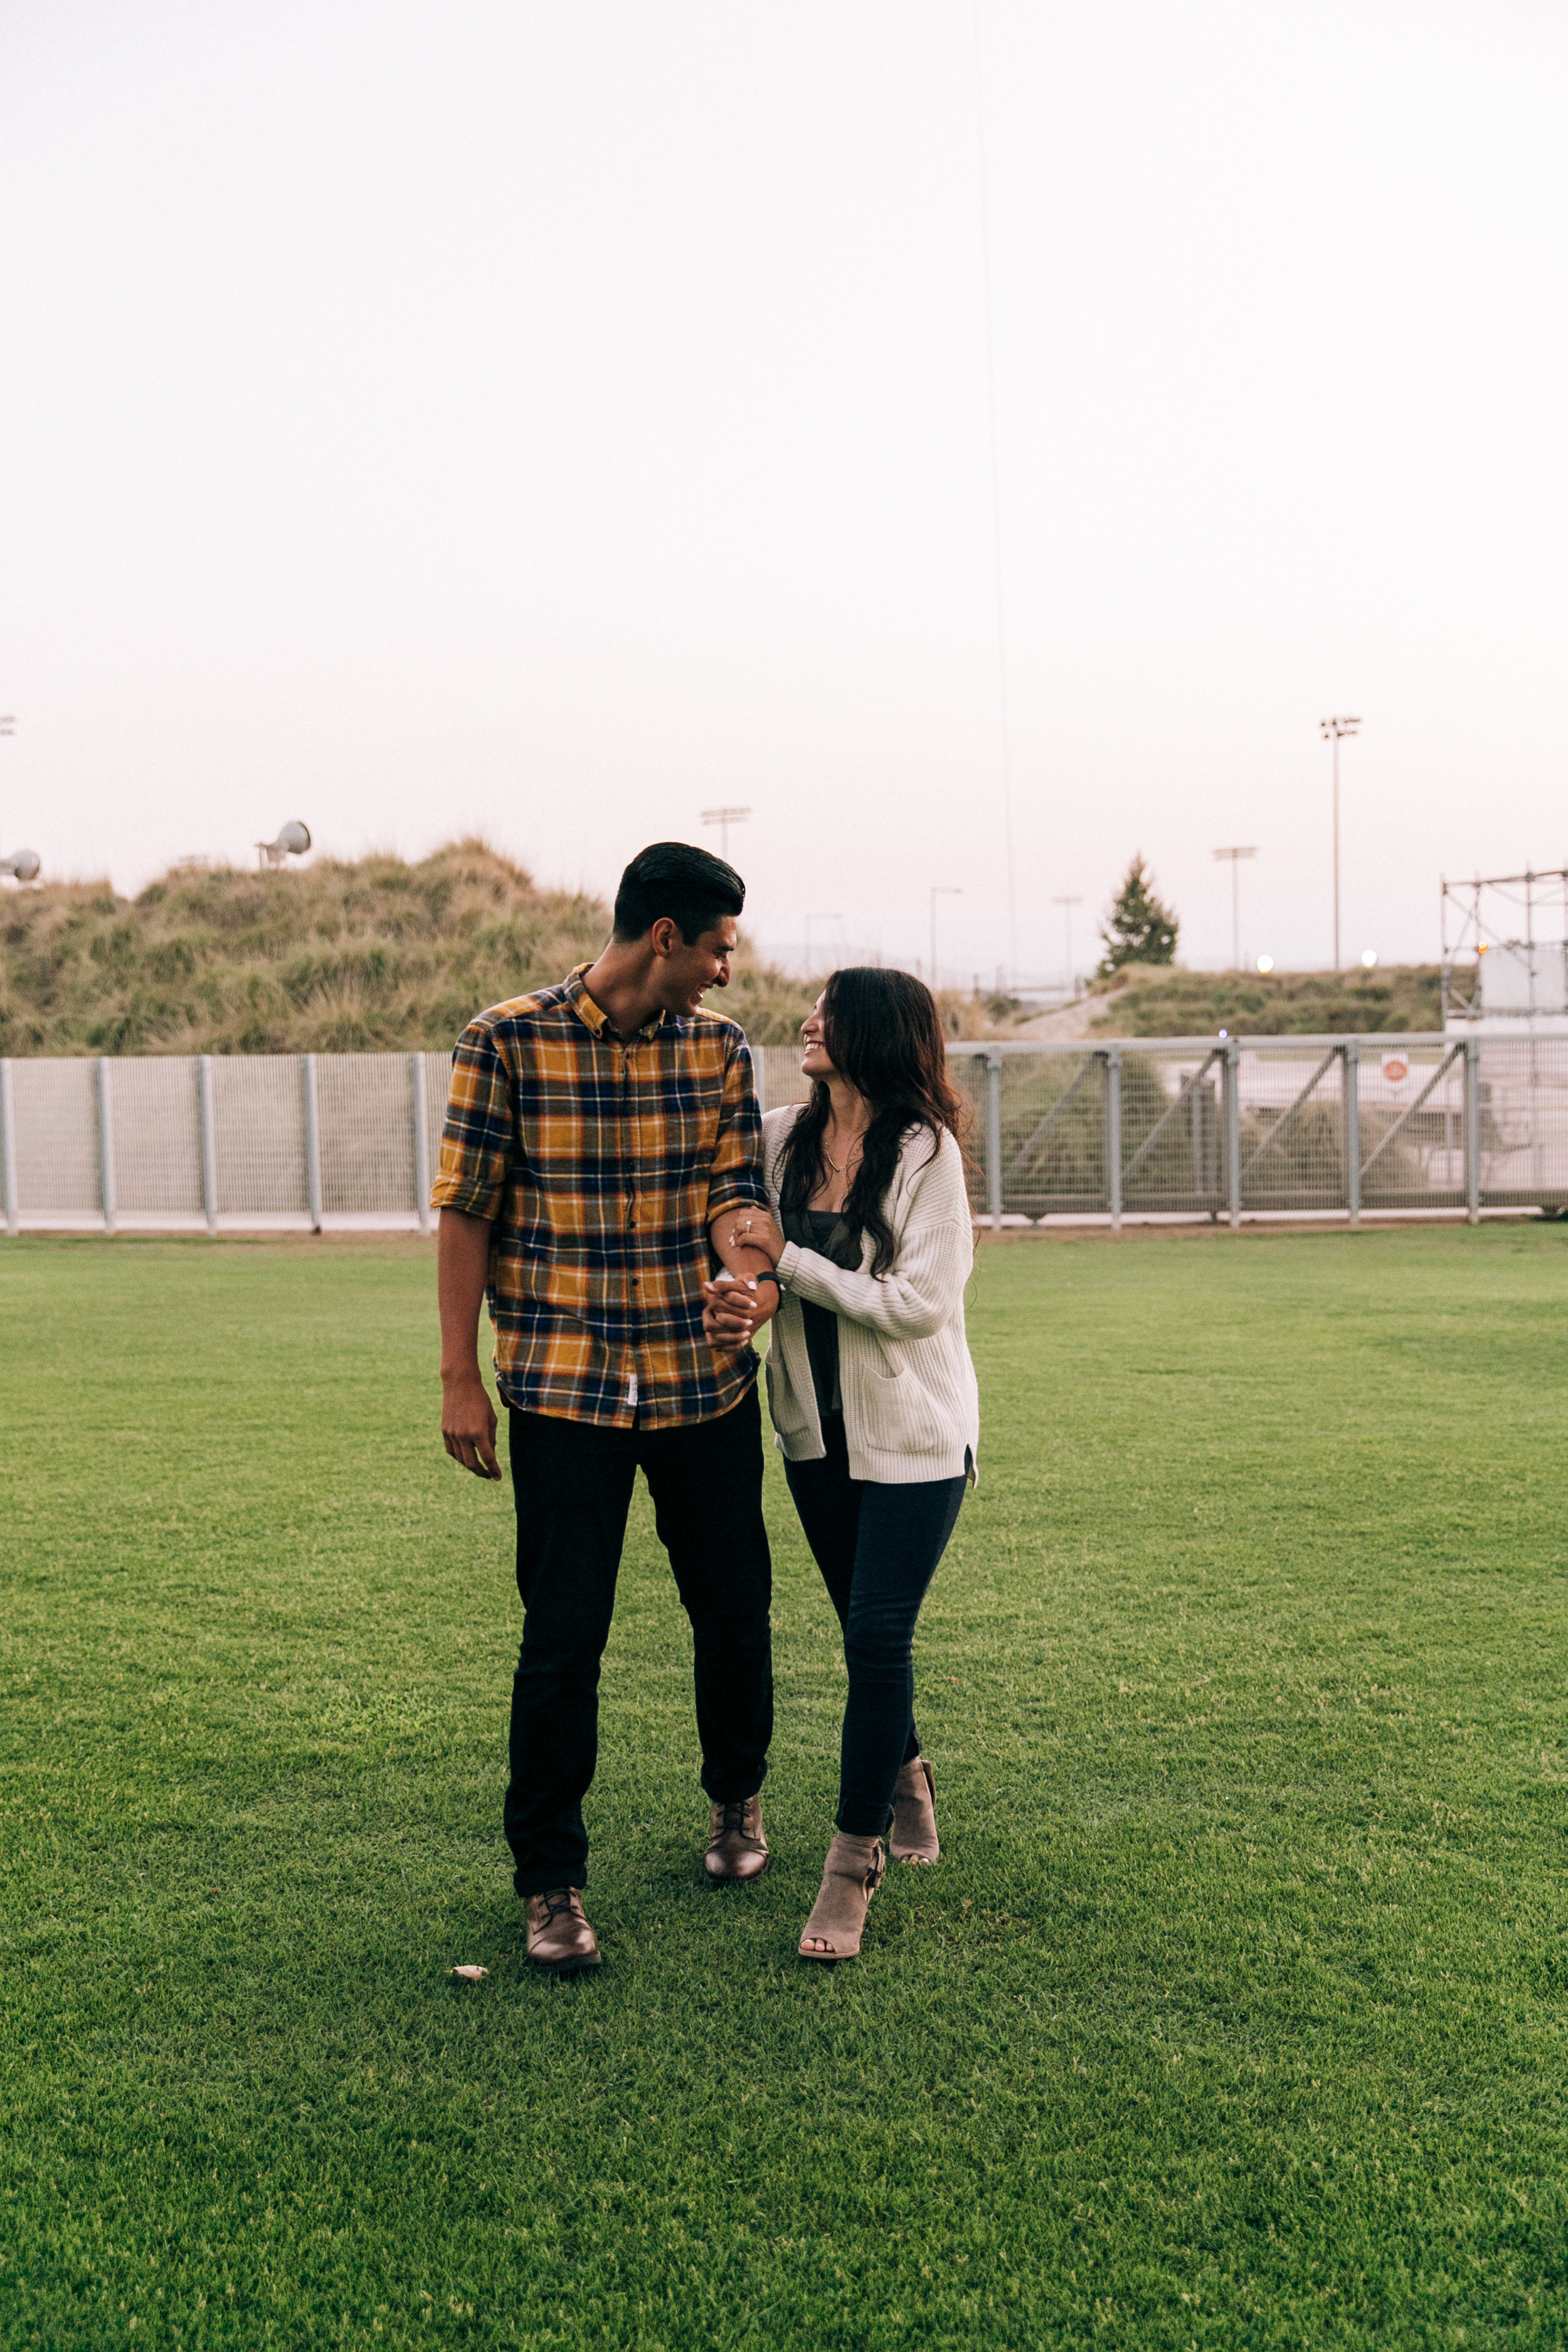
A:
[[[804,1023],[811,1101],[766,1112],[785,1235],[769,1409],[806,1543],[844,1628],[837,1835],[802,1959],[849,1959],[893,1860],[933,1863],[936,1785],[912,1639],[980,1444],[964,1338],[973,1221],[936,997],[905,971],[835,971]],[[715,1284],[710,1331],[750,1336]]]

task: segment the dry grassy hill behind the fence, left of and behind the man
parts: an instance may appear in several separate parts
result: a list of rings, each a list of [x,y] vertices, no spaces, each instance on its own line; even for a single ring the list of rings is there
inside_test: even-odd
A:
[[[607,934],[599,898],[536,889],[475,840],[416,866],[176,866],[136,898],[47,882],[0,898],[0,1054],[440,1051]],[[780,1044],[811,997],[743,953],[719,1002]]]

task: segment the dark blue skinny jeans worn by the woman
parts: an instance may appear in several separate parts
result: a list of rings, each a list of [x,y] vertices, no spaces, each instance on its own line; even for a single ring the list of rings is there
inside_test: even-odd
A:
[[[820,1463],[785,1461],[799,1524],[844,1628],[849,1705],[839,1750],[839,1830],[886,1837],[898,1771],[919,1755],[914,1621],[959,1517],[969,1479],[882,1486],[849,1475],[844,1416],[823,1416]]]

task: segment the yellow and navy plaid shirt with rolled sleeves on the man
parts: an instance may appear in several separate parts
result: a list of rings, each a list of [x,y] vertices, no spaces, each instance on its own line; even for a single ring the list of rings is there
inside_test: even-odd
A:
[[[752,1056],[708,1011],[616,1037],[585,971],[458,1037],[430,1207],[494,1221],[508,1404],[604,1428],[715,1421],[757,1378],[750,1348],[703,1336],[710,1218],[766,1211]]]

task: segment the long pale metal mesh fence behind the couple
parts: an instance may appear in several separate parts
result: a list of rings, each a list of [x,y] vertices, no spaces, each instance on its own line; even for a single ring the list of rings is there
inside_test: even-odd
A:
[[[954,1044],[976,1214],[1568,1209],[1568,1037]],[[447,1054],[0,1061],[5,1230],[428,1230]],[[757,1051],[764,1108],[799,1047]]]

